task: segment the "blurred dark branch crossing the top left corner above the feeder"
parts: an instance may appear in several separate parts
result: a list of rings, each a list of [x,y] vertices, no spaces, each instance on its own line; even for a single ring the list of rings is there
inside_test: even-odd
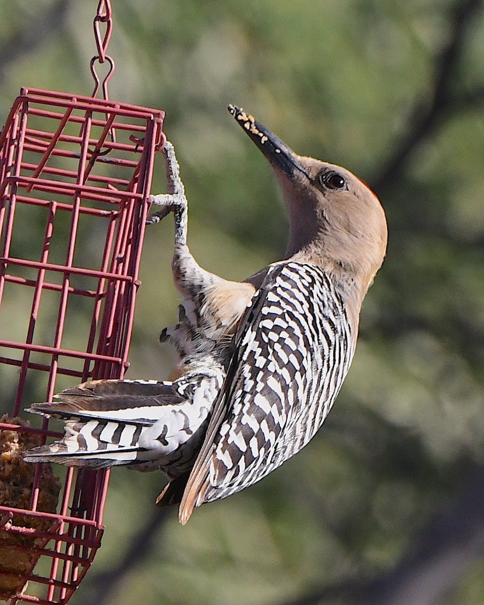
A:
[[[67,22],[72,0],[57,0],[45,10],[31,14],[22,27],[10,38],[0,44],[0,81],[4,78],[8,66],[22,55],[31,53],[47,41],[54,33],[62,29]]]

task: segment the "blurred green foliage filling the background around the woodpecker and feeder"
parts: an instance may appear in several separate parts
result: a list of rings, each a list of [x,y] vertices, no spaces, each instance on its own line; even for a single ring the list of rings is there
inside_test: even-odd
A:
[[[286,243],[275,180],[228,102],[299,153],[374,186],[390,240],[352,370],[313,442],[257,486],[195,511],[185,528],[175,511],[157,523],[160,476],[114,471],[103,548],[71,602],[330,602],[297,599],[396,566],[484,456],[481,3],[112,3],[110,97],[166,111],[203,267],[241,280]],[[22,34],[54,4],[0,4],[2,120],[21,85],[92,90],[96,0],[65,2],[64,19]],[[159,163],[153,191],[163,187]],[[168,218],[146,234],[131,378],[165,378],[172,363],[157,342],[177,305],[171,250]],[[124,561],[147,520],[155,534]],[[482,604],[483,560],[469,564],[445,603]]]

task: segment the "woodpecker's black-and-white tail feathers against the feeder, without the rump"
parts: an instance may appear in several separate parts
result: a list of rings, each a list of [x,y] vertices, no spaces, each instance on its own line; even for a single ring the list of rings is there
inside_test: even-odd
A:
[[[143,463],[147,450],[140,438],[160,419],[164,404],[176,400],[171,382],[103,380],[67,389],[52,403],[28,408],[64,420],[65,434],[28,450],[24,460],[91,468]]]

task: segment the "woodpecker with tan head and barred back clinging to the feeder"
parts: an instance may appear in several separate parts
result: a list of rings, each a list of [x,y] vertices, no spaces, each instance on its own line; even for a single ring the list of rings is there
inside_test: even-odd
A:
[[[60,442],[28,462],[161,468],[157,504],[195,507],[235,494],[306,445],[335,401],[355,352],[365,293],[384,260],[378,198],[340,166],[296,154],[242,109],[232,116],[269,160],[289,215],[284,259],[243,283],[206,272],[186,246],[187,203],[174,149],[168,194],[152,201],[175,217],[178,323],[171,381],[95,381],[30,411],[65,421]]]

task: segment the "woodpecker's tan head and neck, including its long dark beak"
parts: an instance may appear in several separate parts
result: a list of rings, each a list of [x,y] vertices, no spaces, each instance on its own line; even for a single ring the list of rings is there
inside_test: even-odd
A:
[[[229,111],[280,182],[289,214],[286,258],[322,266],[361,304],[387,248],[378,197],[347,169],[298,155],[244,110],[229,105]]]

